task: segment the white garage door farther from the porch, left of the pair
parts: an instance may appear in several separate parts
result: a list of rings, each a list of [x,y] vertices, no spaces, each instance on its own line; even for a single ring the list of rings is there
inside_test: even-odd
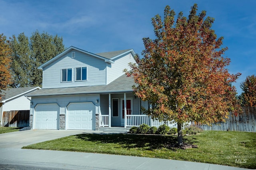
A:
[[[57,129],[58,104],[38,104],[35,107],[34,129]]]

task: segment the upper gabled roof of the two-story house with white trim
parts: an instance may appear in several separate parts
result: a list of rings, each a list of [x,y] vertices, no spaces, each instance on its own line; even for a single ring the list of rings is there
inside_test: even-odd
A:
[[[78,49],[76,47],[69,47],[68,49],[66,49],[65,51],[63,51],[62,53],[56,55],[54,58],[50,59],[49,61],[47,61],[46,63],[40,65],[38,67],[38,69],[43,70],[43,68],[45,66],[47,66],[48,64],[52,63],[53,61],[55,61],[56,59],[60,58],[62,55],[64,55],[65,53],[68,53],[68,51],[70,50],[77,50],[80,51],[82,53],[86,53],[88,55],[92,55],[94,57],[97,57],[99,59],[104,60],[106,63],[114,63],[113,59],[115,59],[116,57],[119,57],[121,55],[124,55],[125,53],[131,52],[133,55],[135,55],[133,49],[128,49],[128,50],[120,50],[120,51],[113,51],[113,52],[106,52],[106,53],[98,53],[98,54],[94,54],[94,53],[90,53],[88,51],[84,51],[82,49]]]

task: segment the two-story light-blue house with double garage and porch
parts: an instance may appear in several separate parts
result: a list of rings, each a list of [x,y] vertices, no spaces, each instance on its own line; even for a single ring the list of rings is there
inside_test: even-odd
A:
[[[42,89],[32,92],[32,129],[84,129],[150,124],[140,106],[147,102],[134,96],[134,80],[123,70],[136,63],[132,49],[90,53],[69,47],[38,67],[43,71]]]

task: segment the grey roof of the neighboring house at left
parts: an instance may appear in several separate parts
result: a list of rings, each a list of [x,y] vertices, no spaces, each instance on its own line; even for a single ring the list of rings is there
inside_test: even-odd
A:
[[[13,98],[17,98],[19,96],[24,96],[24,94],[28,94],[33,92],[34,90],[39,90],[40,87],[24,87],[24,88],[9,88],[6,90],[2,90],[0,103],[5,103],[8,100]]]

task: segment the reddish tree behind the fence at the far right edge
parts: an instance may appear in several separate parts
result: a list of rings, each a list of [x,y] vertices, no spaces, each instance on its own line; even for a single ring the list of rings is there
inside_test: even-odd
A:
[[[240,95],[242,105],[256,107],[256,76],[254,74],[252,76],[247,76],[240,87],[243,90]]]

